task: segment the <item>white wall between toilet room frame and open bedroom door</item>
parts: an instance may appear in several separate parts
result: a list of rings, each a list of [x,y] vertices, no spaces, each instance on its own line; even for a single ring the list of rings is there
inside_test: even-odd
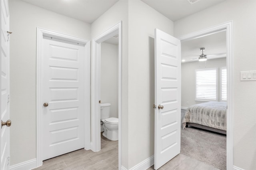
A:
[[[152,39],[158,28],[173,35],[173,22],[139,0],[129,1],[128,141],[129,166],[154,155]],[[151,55],[150,55],[151,54]],[[151,80],[151,81],[150,81]],[[151,83],[151,85],[150,85]],[[127,168],[127,167],[126,167]]]

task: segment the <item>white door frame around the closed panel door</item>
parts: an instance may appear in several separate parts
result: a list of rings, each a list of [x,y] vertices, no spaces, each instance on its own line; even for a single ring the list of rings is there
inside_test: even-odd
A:
[[[36,166],[42,165],[41,63],[43,36],[84,45],[84,149],[90,149],[90,41],[37,27],[36,33]]]

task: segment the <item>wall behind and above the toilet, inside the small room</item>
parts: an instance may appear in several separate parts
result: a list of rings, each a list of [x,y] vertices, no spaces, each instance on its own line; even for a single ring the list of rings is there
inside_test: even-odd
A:
[[[101,43],[100,100],[110,103],[110,117],[118,118],[118,45]]]

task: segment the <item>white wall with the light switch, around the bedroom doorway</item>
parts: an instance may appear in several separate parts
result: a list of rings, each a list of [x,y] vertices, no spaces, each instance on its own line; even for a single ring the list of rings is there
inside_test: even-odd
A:
[[[256,70],[256,1],[222,2],[174,22],[174,33],[178,37],[230,20],[234,22],[234,166],[253,170],[256,169],[256,81],[240,81],[240,71]]]

